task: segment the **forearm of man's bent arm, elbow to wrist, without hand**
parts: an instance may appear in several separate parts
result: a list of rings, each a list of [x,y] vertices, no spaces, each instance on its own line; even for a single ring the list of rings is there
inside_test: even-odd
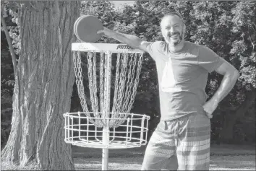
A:
[[[213,95],[213,97],[210,100],[213,100],[216,104],[221,102],[226,95],[231,92],[231,89],[233,89],[234,84],[236,84],[236,80],[238,79],[239,74],[225,74],[223,76],[223,79],[221,81],[220,87],[218,87],[216,93]]]

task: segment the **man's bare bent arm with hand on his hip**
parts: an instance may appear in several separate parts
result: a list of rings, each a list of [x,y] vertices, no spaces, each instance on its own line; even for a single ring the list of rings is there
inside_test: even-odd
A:
[[[213,117],[212,113],[216,110],[218,103],[229,94],[231,89],[234,87],[234,84],[236,84],[236,80],[239,78],[239,71],[237,71],[229,62],[224,59],[221,60],[223,60],[223,63],[215,70],[218,74],[223,75],[221,85],[218,87],[213,97],[203,105],[203,108],[205,109],[205,112],[208,113],[209,118]]]

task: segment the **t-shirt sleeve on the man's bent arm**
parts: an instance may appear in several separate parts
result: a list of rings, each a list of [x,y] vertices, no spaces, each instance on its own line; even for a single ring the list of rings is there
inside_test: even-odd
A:
[[[214,51],[205,46],[200,46],[198,55],[198,65],[202,66],[209,73],[218,69],[223,60]]]

